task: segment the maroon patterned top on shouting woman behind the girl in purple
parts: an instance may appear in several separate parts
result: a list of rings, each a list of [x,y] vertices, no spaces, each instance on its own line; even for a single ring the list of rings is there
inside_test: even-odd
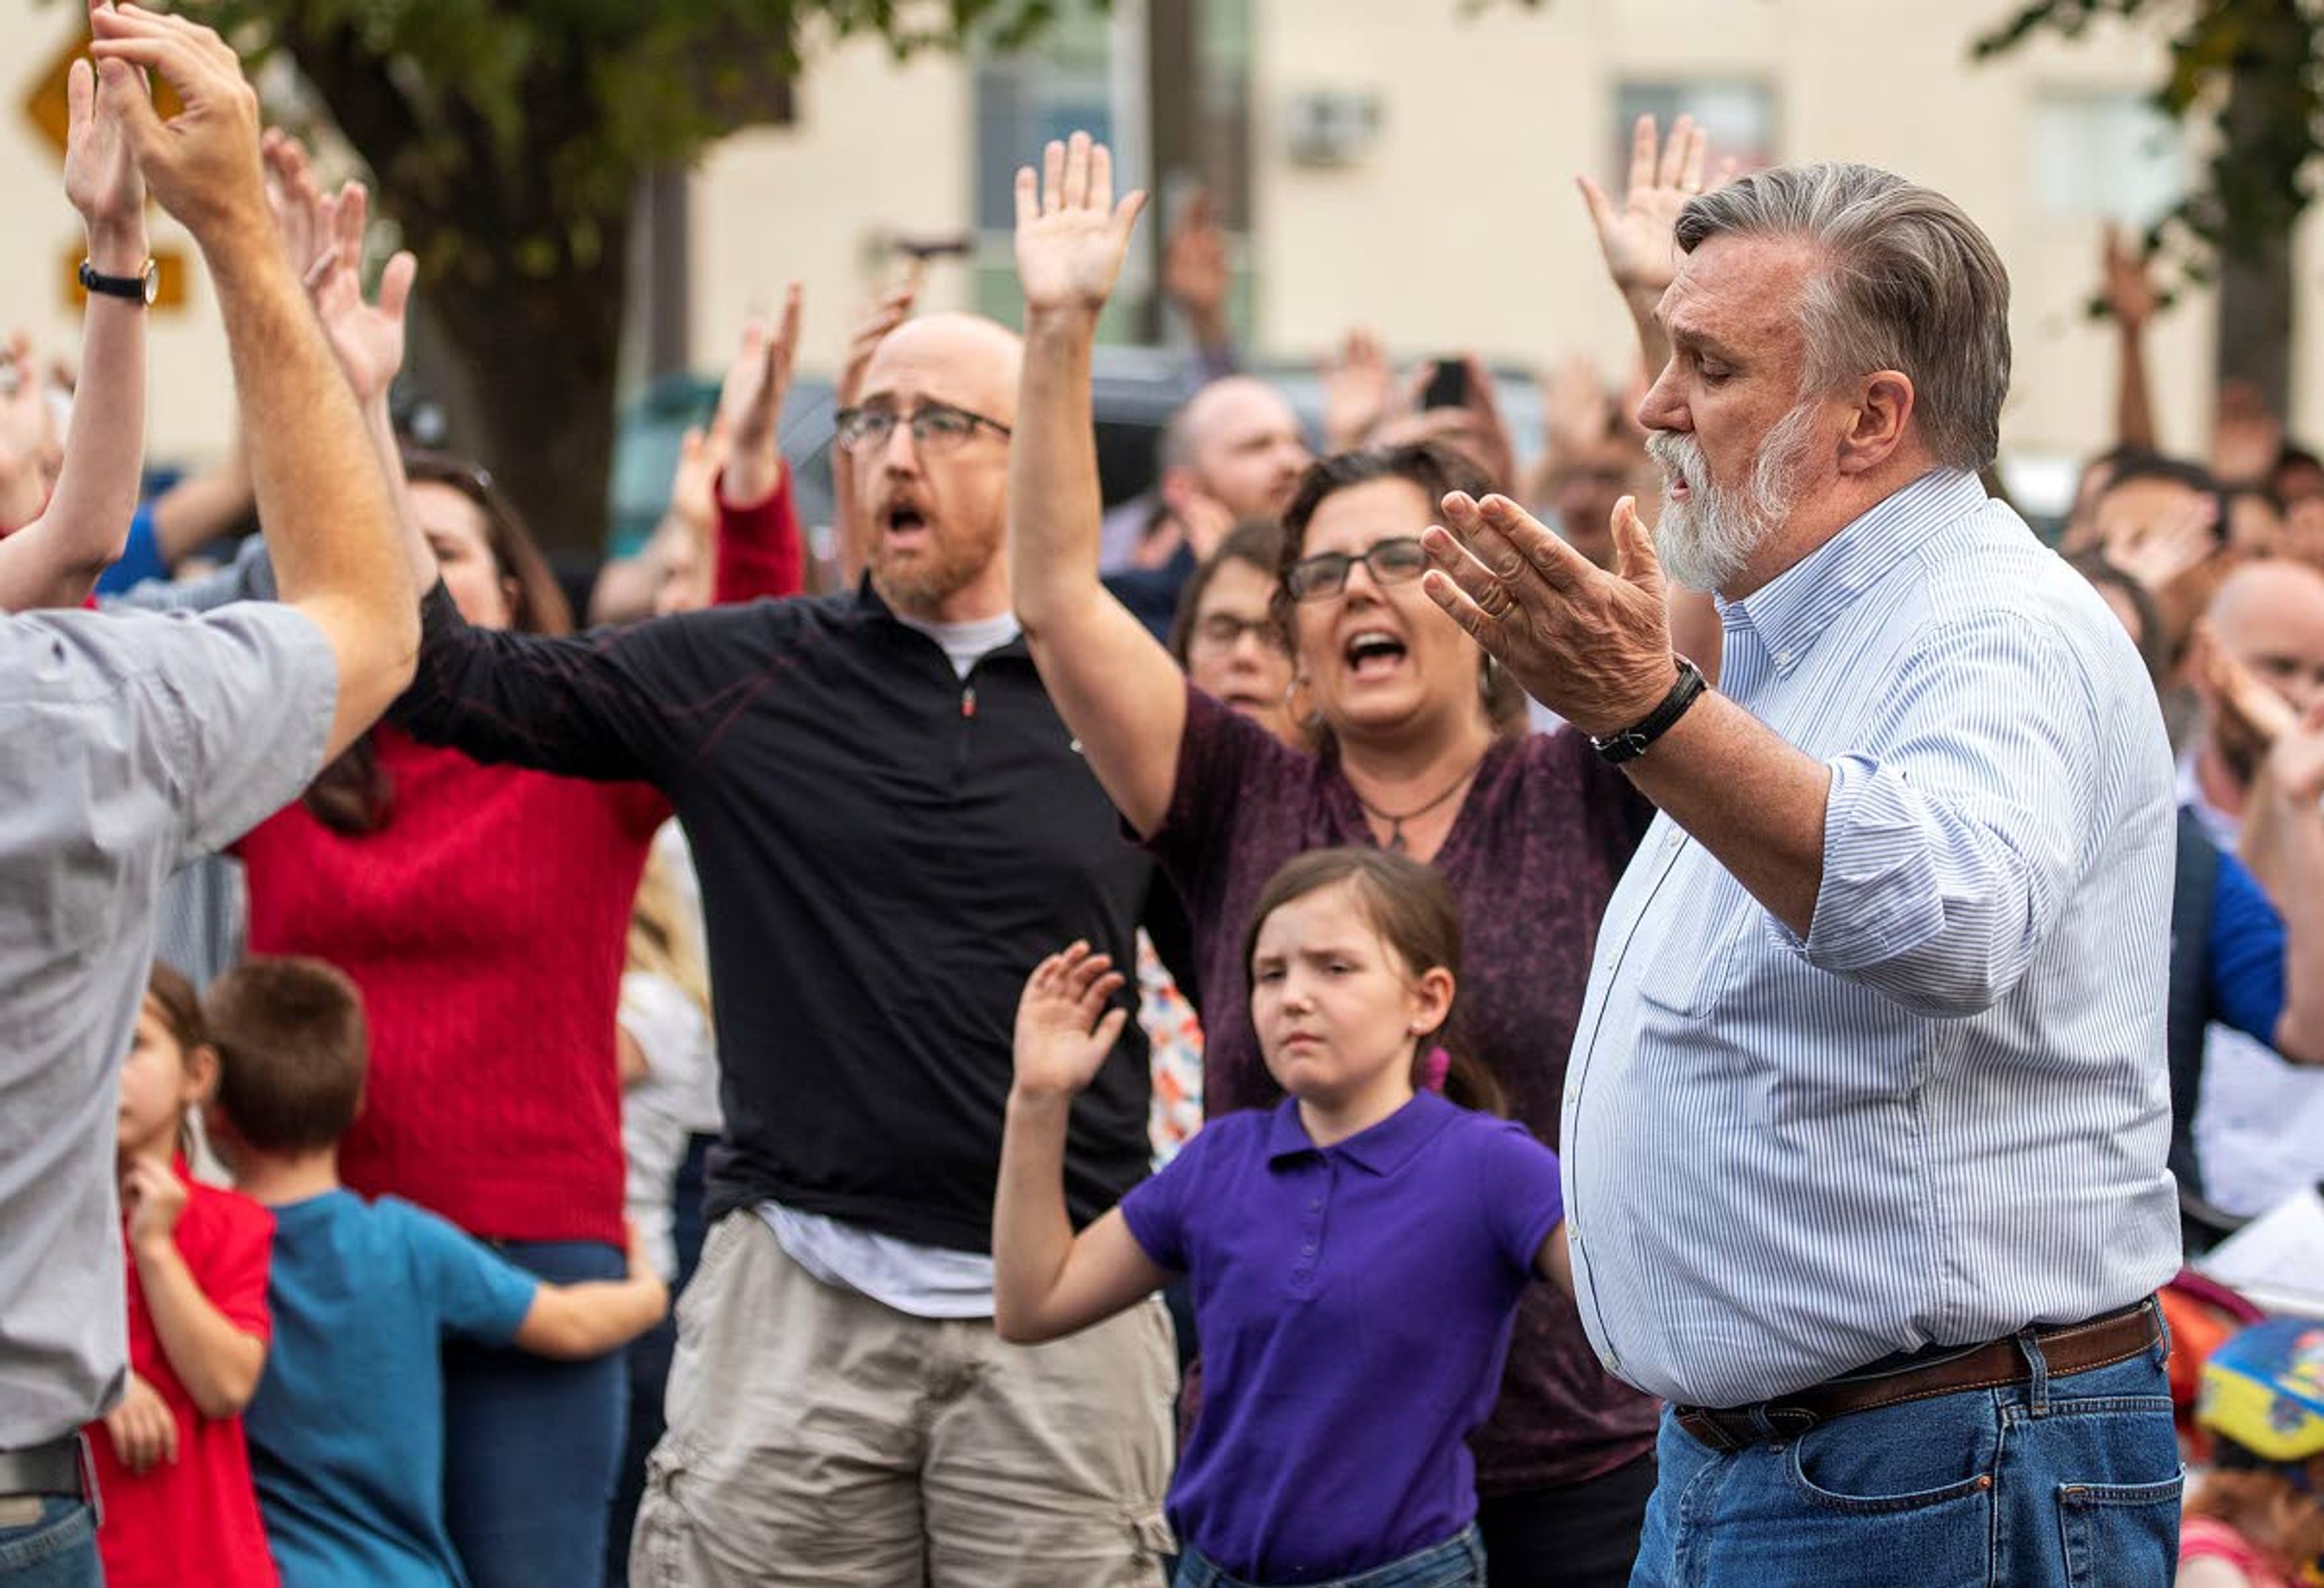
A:
[[[1462,904],[1462,1030],[1511,1114],[1552,1146],[1599,916],[1650,816],[1578,732],[1529,735],[1485,753],[1436,851]],[[1148,846],[1195,923],[1206,1114],[1283,1097],[1260,1060],[1241,963],[1260,888],[1308,849],[1371,842],[1332,749],[1294,751],[1188,686],[1178,781]],[[1655,1400],[1599,1367],[1573,1302],[1538,1283],[1518,1314],[1501,1400],[1473,1442],[1478,1490],[1611,1472],[1652,1448],[1655,1416]]]

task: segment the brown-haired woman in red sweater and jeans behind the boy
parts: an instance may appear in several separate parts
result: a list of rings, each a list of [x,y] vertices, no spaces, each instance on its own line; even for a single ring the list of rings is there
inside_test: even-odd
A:
[[[404,467],[469,623],[572,628],[483,470],[437,453]],[[321,958],[363,988],[372,1067],[339,1146],[353,1190],[418,1202],[555,1283],[625,1272],[616,1004],[667,816],[641,784],[486,767],[381,723],[237,844],[251,951]],[[623,1358],[462,1344],[444,1388],[446,1514],[469,1579],[597,1581]]]

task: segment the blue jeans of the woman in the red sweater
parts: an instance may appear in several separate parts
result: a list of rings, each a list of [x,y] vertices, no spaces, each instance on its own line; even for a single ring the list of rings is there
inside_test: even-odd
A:
[[[551,1283],[621,1279],[600,1242],[493,1242]],[[623,1351],[551,1362],[444,1346],[444,1516],[474,1588],[597,1588],[630,1411]]]

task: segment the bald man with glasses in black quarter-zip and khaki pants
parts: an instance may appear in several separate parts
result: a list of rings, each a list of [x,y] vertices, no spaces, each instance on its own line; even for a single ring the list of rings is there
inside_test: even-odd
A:
[[[637,1583],[1162,1581],[1162,1304],[992,1332],[1025,972],[1074,939],[1132,965],[1150,879],[1011,616],[1020,358],[964,314],[878,344],[837,419],[855,591],[560,639],[423,602],[404,728],[648,781],[702,872],[727,1123]],[[1074,1109],[1076,1223],[1146,1172],[1146,1063],[1132,1021]]]

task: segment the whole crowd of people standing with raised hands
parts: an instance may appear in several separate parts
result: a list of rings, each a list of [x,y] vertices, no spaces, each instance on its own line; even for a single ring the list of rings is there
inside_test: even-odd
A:
[[[91,28],[70,423],[0,398],[0,1583],[2324,1572],[2324,1328],[2166,1323],[2324,1179],[2324,460],[2164,449],[2117,242],[2054,546],[1975,221],[1687,119],[1583,181],[1638,365],[1532,463],[1369,330],[1308,435],[1181,216],[1109,509],[1076,133],[1023,328],[855,330],[839,586],[792,288],[576,630],[397,435],[363,186]],[[237,444],[139,502],[146,198]]]

